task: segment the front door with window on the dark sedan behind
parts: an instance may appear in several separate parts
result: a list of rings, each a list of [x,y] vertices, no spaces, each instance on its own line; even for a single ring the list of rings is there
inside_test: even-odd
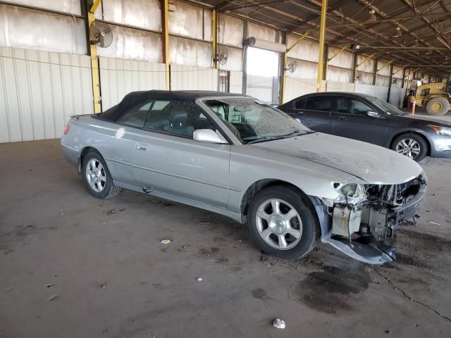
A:
[[[364,101],[351,96],[337,96],[331,118],[334,135],[385,146],[387,120]]]

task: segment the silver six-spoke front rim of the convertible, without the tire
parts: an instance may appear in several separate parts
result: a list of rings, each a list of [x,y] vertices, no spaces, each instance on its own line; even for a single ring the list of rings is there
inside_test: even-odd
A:
[[[302,220],[283,199],[268,199],[260,204],[256,220],[261,238],[275,249],[292,249],[302,237]]]

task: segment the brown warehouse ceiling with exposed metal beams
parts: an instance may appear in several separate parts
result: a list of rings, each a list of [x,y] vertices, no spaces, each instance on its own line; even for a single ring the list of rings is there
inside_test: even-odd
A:
[[[319,39],[321,0],[202,1],[218,13]],[[451,70],[451,0],[329,0],[326,43],[432,74]]]

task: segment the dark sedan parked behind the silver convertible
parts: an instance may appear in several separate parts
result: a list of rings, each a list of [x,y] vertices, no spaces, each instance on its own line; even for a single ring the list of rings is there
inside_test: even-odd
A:
[[[409,115],[375,96],[314,93],[278,108],[317,132],[385,146],[415,161],[451,157],[451,124]]]

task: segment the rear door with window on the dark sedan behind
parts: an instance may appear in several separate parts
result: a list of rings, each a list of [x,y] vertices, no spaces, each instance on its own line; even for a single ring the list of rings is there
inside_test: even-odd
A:
[[[293,118],[299,118],[303,125],[316,132],[332,134],[330,111],[333,108],[333,96],[308,96],[295,102],[290,111]]]

